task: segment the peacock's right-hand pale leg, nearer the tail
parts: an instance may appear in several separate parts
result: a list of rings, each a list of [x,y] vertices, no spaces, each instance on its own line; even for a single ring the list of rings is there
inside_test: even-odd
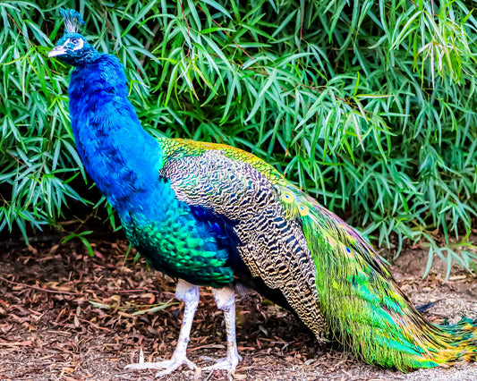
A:
[[[226,320],[227,333],[227,355],[224,359],[215,360],[214,365],[202,368],[202,370],[225,369],[229,375],[233,375],[239,360],[242,358],[237,351],[237,342],[235,339],[235,294],[234,289],[224,287],[221,289],[212,290],[214,298],[217,302],[217,308],[224,311],[224,318]],[[214,360],[209,357],[202,356],[204,360]]]

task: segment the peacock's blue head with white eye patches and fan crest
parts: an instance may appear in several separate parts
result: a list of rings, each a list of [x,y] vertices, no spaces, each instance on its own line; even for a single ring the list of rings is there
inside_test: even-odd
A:
[[[81,66],[98,60],[101,54],[78,33],[80,25],[84,24],[80,13],[69,10],[60,10],[64,19],[65,32],[56,46],[48,53],[48,57],[58,57],[64,63]]]

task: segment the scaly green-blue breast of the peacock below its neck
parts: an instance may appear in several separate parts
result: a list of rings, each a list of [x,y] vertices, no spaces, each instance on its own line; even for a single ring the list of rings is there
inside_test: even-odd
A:
[[[229,250],[217,244],[216,233],[198,220],[187,204],[175,198],[160,180],[151,204],[121,215],[124,232],[150,266],[189,283],[223,287],[234,281]]]

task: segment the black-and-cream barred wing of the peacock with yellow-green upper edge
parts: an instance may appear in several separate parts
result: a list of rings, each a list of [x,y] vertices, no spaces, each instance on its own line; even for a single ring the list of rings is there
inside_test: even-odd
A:
[[[251,275],[279,290],[303,323],[322,335],[316,269],[299,220],[283,206],[283,176],[235,148],[172,143],[175,149],[165,149],[159,173],[169,179],[177,199],[232,221],[237,251]]]

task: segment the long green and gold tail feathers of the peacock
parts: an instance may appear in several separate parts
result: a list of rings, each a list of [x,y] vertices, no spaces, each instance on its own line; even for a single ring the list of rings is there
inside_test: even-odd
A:
[[[368,363],[402,371],[477,359],[477,321],[436,326],[422,318],[353,228],[314,200],[310,209],[303,233],[336,340]]]

